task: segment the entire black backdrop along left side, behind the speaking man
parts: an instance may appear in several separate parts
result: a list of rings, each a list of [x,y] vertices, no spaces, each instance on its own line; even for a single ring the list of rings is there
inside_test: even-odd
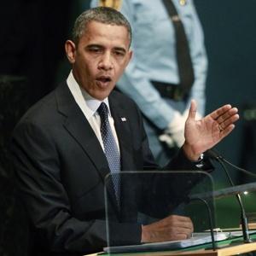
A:
[[[55,86],[71,3],[0,3],[0,255],[29,253],[28,220],[15,189],[9,140],[20,116]]]

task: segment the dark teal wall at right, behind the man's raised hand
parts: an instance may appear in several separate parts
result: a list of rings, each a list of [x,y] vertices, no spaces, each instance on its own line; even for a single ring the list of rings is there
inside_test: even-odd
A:
[[[226,159],[239,165],[245,120],[242,108],[256,104],[256,1],[194,0],[205,32],[209,73],[207,79],[207,113],[219,105],[230,103],[241,110],[236,130],[218,145]],[[256,154],[256,153],[255,153]],[[256,155],[255,167],[256,173]],[[235,183],[238,173],[230,168]],[[216,188],[229,186],[223,170],[213,173]],[[255,178],[249,181],[255,182]],[[247,212],[256,212],[255,193],[243,196]],[[216,201],[217,220],[221,227],[239,223],[239,209],[232,197]]]

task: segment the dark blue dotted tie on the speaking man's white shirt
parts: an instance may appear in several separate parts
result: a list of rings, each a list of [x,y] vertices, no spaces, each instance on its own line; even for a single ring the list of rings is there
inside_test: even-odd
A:
[[[108,107],[102,102],[100,107],[97,109],[101,117],[101,134],[102,142],[104,146],[104,152],[108,160],[108,166],[112,173],[113,188],[117,201],[119,203],[119,190],[120,190],[120,156],[117,144],[114,140],[113,133],[108,121]]]

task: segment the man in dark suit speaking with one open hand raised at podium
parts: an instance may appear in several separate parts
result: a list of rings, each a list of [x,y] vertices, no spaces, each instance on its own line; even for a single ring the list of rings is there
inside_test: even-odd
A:
[[[131,27],[118,11],[85,11],[76,20],[73,40],[65,45],[73,67],[67,82],[33,106],[15,128],[17,183],[38,251],[90,253],[106,246],[104,179],[113,171],[108,147],[119,153],[114,161],[119,172],[158,169],[136,104],[113,91],[131,59],[130,44]],[[102,102],[110,146],[102,131]],[[227,136],[239,118],[230,105],[201,120],[195,120],[195,113],[192,101],[186,141],[166,170],[198,169],[201,154]],[[124,222],[121,202],[112,198],[115,245],[185,239],[193,231],[190,218],[177,215],[147,225],[132,224],[129,218]]]

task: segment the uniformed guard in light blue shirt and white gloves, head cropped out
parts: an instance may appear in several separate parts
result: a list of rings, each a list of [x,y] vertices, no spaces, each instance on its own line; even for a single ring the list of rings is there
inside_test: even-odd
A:
[[[194,3],[92,0],[96,5],[119,9],[131,23],[134,55],[117,87],[137,102],[150,148],[164,165],[172,157],[170,148],[183,145],[191,98],[198,117],[205,112],[207,55]]]

